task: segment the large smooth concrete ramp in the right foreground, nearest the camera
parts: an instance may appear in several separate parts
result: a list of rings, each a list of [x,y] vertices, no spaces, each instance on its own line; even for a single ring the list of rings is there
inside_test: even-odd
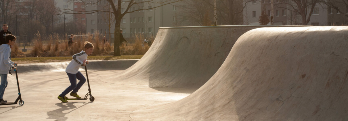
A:
[[[173,103],[135,110],[130,117],[136,121],[347,121],[347,38],[346,26],[248,31],[196,92]]]

